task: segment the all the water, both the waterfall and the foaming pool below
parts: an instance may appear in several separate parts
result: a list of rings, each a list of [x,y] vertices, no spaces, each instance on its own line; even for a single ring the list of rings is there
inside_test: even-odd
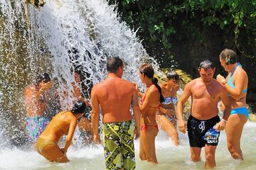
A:
[[[11,147],[23,144],[22,137],[17,136],[26,136],[21,130],[22,118],[26,115],[24,87],[34,82],[38,73],[48,72],[54,79],[60,102],[68,108],[72,103],[70,90],[75,67],[86,73],[83,81],[90,97],[91,85],[105,79],[107,57],[121,57],[126,63],[124,79],[139,85],[142,85],[138,77],[139,64],[147,61],[155,69],[158,66],[146,54],[136,32],[119,22],[114,6],[108,6],[107,1],[45,1],[41,11],[29,5],[31,30],[27,30],[23,0],[0,0],[0,169],[104,169],[101,145],[70,147],[68,164],[51,163],[36,151]],[[62,91],[66,89],[69,100],[63,100]],[[242,138],[245,164],[230,159],[225,132],[222,132],[216,151],[216,169],[256,168],[255,126],[255,123],[245,126]],[[137,169],[203,169],[203,162],[188,161],[188,137],[179,136],[181,145],[175,147],[159,132],[156,156],[160,164],[157,166],[139,160],[139,142],[136,141]],[[202,160],[205,160],[203,152]]]

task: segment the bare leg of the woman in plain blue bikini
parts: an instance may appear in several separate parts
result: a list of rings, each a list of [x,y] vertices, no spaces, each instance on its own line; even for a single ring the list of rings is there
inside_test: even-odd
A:
[[[247,118],[242,114],[230,115],[228,123],[225,126],[227,134],[228,150],[234,159],[242,158],[242,150],[240,148],[240,139],[242,135],[242,128],[247,122]]]

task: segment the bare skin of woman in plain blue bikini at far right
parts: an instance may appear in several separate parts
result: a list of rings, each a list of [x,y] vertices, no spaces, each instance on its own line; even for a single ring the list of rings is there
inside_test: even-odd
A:
[[[230,78],[230,74],[233,72],[238,63],[225,64],[225,61],[220,59],[220,64],[229,74],[228,77],[226,78],[218,74],[217,80],[223,84],[225,89],[227,89],[228,93],[231,95],[229,97],[231,108],[242,108],[247,106],[246,93],[244,94],[242,92],[243,89],[247,89],[247,73],[245,72],[244,69],[242,69],[242,67],[237,67],[232,77],[233,84],[235,85],[235,89],[233,89],[226,82]],[[223,106],[222,104],[222,109],[224,108],[225,106]],[[230,117],[228,118],[228,123],[226,125],[225,132],[227,134],[228,150],[230,151],[230,154],[234,159],[243,160],[242,150],[240,148],[240,139],[242,136],[242,129],[246,122],[247,118],[245,115],[242,114],[230,115]]]

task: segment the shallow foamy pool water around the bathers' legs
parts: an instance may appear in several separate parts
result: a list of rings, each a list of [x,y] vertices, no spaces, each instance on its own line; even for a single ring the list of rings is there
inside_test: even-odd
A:
[[[230,157],[226,147],[225,132],[220,134],[220,142],[216,149],[215,169],[256,169],[256,123],[248,121],[242,134],[241,148],[245,161],[243,163]],[[204,149],[201,152],[202,161],[193,163],[189,160],[189,144],[187,134],[179,134],[181,145],[175,147],[164,132],[159,131],[156,137],[156,157],[159,164],[153,165],[139,160],[139,141],[135,142],[137,169],[205,169]],[[101,170],[105,169],[102,145],[71,146],[68,150],[70,162],[58,164],[48,162],[33,149],[1,148],[0,169],[75,169]]]

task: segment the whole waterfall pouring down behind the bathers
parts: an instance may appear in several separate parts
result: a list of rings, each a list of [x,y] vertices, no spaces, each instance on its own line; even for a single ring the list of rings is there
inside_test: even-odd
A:
[[[120,57],[125,63],[124,79],[139,81],[138,67],[156,61],[146,54],[136,30],[119,20],[114,6],[105,0],[45,0],[40,10],[23,0],[0,0],[0,108],[1,122],[8,122],[6,132],[16,143],[23,140],[26,110],[23,89],[35,83],[39,73],[48,72],[54,88],[46,94],[48,112],[70,109],[73,101],[71,82],[74,71],[83,74],[83,92],[90,99],[90,89],[107,75],[106,61]],[[31,28],[27,27],[26,11]],[[68,100],[63,91],[67,91]],[[58,101],[54,99],[58,96]],[[15,126],[14,126],[15,125]]]

